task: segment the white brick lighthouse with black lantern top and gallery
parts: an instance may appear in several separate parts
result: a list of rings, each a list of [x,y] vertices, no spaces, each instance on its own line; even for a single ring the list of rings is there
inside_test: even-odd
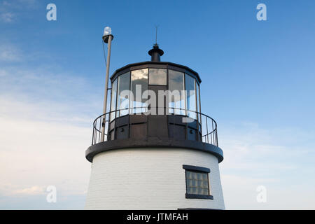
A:
[[[202,80],[163,54],[155,43],[151,60],[111,75],[109,109],[94,120],[85,151],[85,209],[225,209],[223,151],[216,121],[202,111]]]

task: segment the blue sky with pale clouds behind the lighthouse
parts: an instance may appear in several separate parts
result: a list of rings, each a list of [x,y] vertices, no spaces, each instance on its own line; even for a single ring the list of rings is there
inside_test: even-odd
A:
[[[56,21],[46,19],[48,3]],[[218,123],[224,153],[226,209],[315,209],[314,20],[312,0],[0,0],[0,209],[84,208],[103,29],[114,35],[113,73],[150,60],[155,25],[162,61],[202,79],[202,113]]]

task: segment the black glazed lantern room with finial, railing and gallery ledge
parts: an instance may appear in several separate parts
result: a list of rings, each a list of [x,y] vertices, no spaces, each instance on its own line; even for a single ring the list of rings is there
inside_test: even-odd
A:
[[[121,147],[196,148],[223,160],[218,148],[216,121],[201,112],[200,76],[193,69],[160,62],[157,44],[148,52],[151,61],[128,64],[111,76],[109,112],[94,121],[92,146],[97,151]]]

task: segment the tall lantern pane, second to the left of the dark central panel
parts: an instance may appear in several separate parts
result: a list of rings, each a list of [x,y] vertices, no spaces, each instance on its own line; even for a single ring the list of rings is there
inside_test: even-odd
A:
[[[124,91],[127,90],[127,91]],[[118,100],[117,100],[117,117],[128,114],[130,94],[130,72],[124,73],[118,77]]]

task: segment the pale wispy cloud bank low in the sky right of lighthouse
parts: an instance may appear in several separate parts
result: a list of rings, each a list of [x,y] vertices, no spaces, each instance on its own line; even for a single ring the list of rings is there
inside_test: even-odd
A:
[[[315,181],[307,178],[315,172],[314,133],[235,123],[223,125],[219,136],[226,209],[314,209]],[[267,188],[267,203],[257,202],[258,186]]]

